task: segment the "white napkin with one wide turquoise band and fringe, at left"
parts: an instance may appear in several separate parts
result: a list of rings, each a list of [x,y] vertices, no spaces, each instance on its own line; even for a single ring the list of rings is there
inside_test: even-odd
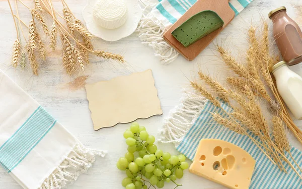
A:
[[[0,70],[0,164],[23,187],[63,188],[95,155]]]

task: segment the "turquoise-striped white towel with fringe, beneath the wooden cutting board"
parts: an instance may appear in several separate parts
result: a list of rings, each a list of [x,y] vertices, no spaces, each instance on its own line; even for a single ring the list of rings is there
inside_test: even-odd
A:
[[[220,1],[220,0],[208,0]],[[230,7],[238,15],[253,0],[230,0]],[[178,52],[164,40],[166,28],[174,24],[197,0],[140,0],[144,8],[137,31],[142,43],[152,47],[164,64],[177,58]]]

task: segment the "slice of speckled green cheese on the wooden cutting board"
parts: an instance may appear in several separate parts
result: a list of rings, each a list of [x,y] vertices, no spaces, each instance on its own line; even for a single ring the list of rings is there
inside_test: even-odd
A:
[[[172,35],[185,47],[223,26],[223,20],[214,11],[202,11],[176,28]]]

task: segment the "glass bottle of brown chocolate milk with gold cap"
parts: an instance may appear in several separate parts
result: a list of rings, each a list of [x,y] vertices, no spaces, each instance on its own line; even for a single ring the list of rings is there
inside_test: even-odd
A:
[[[277,46],[288,65],[302,62],[302,32],[286,14],[285,7],[279,7],[268,14],[273,21],[273,34]]]

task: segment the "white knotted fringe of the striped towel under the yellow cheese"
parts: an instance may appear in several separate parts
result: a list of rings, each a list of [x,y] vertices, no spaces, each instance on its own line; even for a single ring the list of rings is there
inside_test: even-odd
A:
[[[199,116],[207,99],[198,94],[183,91],[181,103],[170,112],[160,131],[160,142],[178,146]]]

